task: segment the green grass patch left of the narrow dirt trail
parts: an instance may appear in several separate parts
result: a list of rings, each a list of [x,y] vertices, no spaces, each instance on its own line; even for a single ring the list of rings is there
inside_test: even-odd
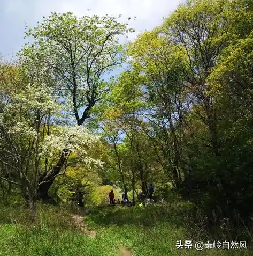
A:
[[[30,213],[5,207],[0,213],[1,256],[114,256],[118,248],[83,235],[70,212],[62,207],[39,206],[35,223]]]

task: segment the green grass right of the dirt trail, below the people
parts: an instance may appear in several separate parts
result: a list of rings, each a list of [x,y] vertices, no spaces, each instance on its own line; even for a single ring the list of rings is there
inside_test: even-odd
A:
[[[190,204],[176,203],[171,206],[127,208],[96,208],[85,218],[89,226],[97,229],[101,240],[114,240],[124,245],[133,255],[252,255],[248,250],[203,251],[178,250],[177,240],[210,241],[209,233],[186,225]],[[224,239],[223,239],[224,240]],[[222,241],[222,240],[221,240]]]

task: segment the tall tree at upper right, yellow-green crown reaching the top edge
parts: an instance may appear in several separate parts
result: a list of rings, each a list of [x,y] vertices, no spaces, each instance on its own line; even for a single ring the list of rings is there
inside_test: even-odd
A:
[[[178,8],[163,27],[173,44],[183,50],[187,57],[184,80],[188,93],[193,94],[195,113],[210,130],[210,143],[214,154],[220,155],[220,139],[217,132],[217,109],[214,98],[209,94],[206,83],[211,68],[217,63],[217,57],[228,45],[231,23],[223,10],[230,1],[189,1]]]

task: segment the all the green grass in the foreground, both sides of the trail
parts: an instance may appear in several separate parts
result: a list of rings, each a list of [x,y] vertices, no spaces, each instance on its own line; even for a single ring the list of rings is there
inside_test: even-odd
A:
[[[1,206],[0,206],[1,207]],[[1,207],[0,255],[2,256],[116,256],[119,247],[133,256],[146,255],[253,255],[247,250],[178,250],[177,240],[214,240],[205,230],[189,224],[191,204],[164,206],[96,207],[85,222],[97,230],[96,238],[76,229],[64,207],[38,206],[36,222],[20,207]],[[221,239],[221,241],[224,239]]]

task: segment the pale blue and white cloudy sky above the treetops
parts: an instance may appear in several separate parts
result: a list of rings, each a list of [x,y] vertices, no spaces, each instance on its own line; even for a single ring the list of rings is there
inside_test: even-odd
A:
[[[0,0],[0,54],[10,58],[25,43],[25,23],[29,27],[42,20],[42,16],[49,16],[51,11],[72,11],[76,16],[84,14],[122,14],[121,20],[127,21],[128,17],[137,16],[129,22],[134,27],[135,36],[144,30],[162,23],[173,11],[180,0]],[[91,11],[87,12],[87,9]]]

